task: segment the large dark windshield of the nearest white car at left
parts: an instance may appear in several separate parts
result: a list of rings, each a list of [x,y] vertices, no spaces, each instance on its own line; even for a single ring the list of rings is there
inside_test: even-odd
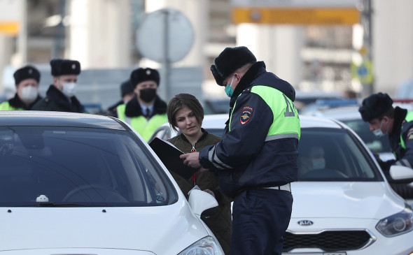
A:
[[[173,203],[172,183],[139,143],[127,131],[0,127],[0,206]]]

